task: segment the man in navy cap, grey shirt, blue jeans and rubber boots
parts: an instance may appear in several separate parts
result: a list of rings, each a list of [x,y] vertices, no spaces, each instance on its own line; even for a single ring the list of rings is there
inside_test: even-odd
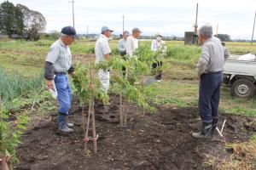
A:
[[[49,53],[44,64],[44,78],[48,88],[55,88],[59,101],[58,129],[62,133],[72,133],[73,123],[68,123],[66,117],[72,105],[72,90],[68,82],[67,74],[73,76],[72,55],[69,45],[77,38],[76,31],[72,26],[66,26],[61,30],[61,38],[55,41],[49,48]]]

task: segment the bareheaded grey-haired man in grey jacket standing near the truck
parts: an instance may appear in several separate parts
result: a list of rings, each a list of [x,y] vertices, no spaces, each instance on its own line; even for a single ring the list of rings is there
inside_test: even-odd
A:
[[[212,37],[212,26],[201,26],[199,40],[203,43],[201,58],[197,65],[200,78],[199,110],[201,131],[192,133],[194,138],[212,137],[218,125],[218,104],[223,81],[224,61],[229,52],[217,37]]]

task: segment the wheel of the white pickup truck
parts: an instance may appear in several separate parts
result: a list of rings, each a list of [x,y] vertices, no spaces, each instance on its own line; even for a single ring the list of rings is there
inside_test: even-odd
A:
[[[240,98],[251,98],[255,94],[255,86],[252,81],[240,78],[232,85],[232,94]]]

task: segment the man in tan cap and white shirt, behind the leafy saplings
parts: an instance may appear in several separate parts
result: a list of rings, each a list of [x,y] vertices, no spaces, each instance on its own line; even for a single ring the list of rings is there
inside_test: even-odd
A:
[[[130,55],[131,57],[134,54],[135,50],[138,48],[137,38],[140,37],[141,33],[142,31],[140,31],[140,29],[133,28],[131,36],[127,37],[126,54]]]

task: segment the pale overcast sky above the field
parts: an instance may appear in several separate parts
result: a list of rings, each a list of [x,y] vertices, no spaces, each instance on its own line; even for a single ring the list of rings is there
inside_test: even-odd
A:
[[[46,31],[60,31],[63,26],[73,25],[69,0],[9,2],[21,3],[44,14]],[[102,26],[108,26],[119,34],[125,14],[125,30],[139,27],[143,35],[160,32],[183,37],[184,31],[193,31],[196,3],[199,3],[199,26],[209,23],[216,31],[218,25],[218,33],[227,33],[233,39],[252,37],[256,0],[75,0],[75,28],[86,33],[89,26],[89,33],[100,33]]]

